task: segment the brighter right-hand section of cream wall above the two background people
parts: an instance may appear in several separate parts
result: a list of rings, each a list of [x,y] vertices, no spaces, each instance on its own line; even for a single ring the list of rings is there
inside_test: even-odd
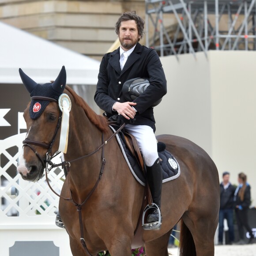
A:
[[[219,172],[247,174],[256,206],[256,52],[211,52],[212,157]]]

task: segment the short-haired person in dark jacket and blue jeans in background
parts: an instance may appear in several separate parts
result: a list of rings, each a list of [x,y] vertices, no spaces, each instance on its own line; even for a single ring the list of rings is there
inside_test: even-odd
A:
[[[222,174],[222,183],[220,184],[220,208],[218,218],[218,244],[223,245],[223,229],[224,218],[226,218],[229,227],[229,242],[232,245],[234,242],[234,227],[233,227],[233,197],[235,188],[230,183],[230,173]],[[227,244],[227,243],[226,243]]]

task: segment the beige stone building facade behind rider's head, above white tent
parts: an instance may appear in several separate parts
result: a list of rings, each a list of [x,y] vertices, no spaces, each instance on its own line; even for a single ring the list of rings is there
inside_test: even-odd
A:
[[[0,0],[0,21],[101,60],[118,17],[133,10],[145,18],[145,0]]]

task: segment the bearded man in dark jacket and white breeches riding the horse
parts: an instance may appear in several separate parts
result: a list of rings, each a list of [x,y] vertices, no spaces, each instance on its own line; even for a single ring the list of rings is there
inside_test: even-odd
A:
[[[125,130],[137,139],[146,164],[153,203],[160,209],[162,168],[154,135],[153,105],[167,92],[165,74],[156,51],[139,44],[144,34],[144,21],[135,11],[123,13],[115,30],[120,47],[102,58],[94,100],[105,111],[106,117],[118,114],[118,119],[126,123]],[[141,79],[142,82],[149,81],[147,90],[133,101],[132,98],[128,100],[123,86],[128,80],[130,84],[133,79],[139,81],[138,78],[147,78]],[[151,210],[147,222],[157,222],[158,217],[158,211]]]

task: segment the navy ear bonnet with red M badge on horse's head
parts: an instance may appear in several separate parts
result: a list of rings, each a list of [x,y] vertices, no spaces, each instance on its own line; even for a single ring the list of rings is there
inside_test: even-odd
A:
[[[23,84],[30,93],[30,97],[33,96],[44,96],[58,100],[60,94],[63,93],[66,85],[66,70],[63,66],[60,74],[53,83],[38,84],[34,82],[29,76],[27,76],[21,68],[19,68],[19,75],[22,79]],[[50,102],[47,100],[32,100],[30,103],[30,117],[37,119],[41,116],[46,106]]]

